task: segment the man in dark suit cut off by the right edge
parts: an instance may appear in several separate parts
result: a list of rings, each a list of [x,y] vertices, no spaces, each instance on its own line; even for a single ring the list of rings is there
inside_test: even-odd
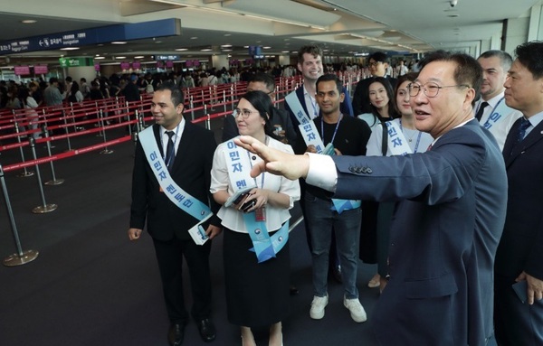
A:
[[[509,182],[496,254],[496,339],[500,346],[543,345],[543,42],[515,50],[505,102],[522,112],[503,147]]]

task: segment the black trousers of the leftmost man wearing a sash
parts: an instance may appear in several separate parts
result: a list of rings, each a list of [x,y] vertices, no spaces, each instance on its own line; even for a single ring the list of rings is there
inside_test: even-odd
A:
[[[188,323],[183,295],[183,258],[190,274],[193,305],[191,315],[196,321],[211,314],[211,276],[209,253],[211,240],[196,245],[192,239],[173,238],[168,241],[153,239],[158,269],[162,279],[162,290],[166,301],[167,315],[171,323]]]

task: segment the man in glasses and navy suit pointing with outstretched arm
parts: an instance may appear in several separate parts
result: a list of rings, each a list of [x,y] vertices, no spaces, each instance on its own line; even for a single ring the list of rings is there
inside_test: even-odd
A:
[[[253,167],[334,192],[398,201],[390,229],[390,279],[373,315],[381,345],[495,345],[492,285],[507,180],[491,133],[473,118],[481,66],[463,53],[426,56],[409,85],[417,129],[430,151],[405,156],[277,153],[242,136],[264,158]]]

